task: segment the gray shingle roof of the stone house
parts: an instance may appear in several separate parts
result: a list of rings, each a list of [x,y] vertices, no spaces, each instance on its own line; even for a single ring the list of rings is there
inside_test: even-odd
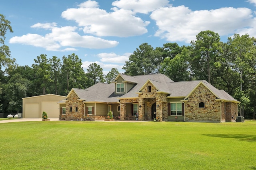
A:
[[[148,74],[148,75],[140,75],[140,76],[128,76],[125,74],[119,74],[124,78],[124,81],[128,82],[136,82],[136,85],[126,94],[123,95],[115,95],[115,84],[105,84],[98,83],[95,84],[86,90],[73,88],[78,97],[85,102],[108,102],[114,103],[118,102],[119,98],[136,98],[138,97],[137,92],[140,91],[142,86],[150,81],[156,88],[161,91],[170,94],[170,97],[180,97],[185,98],[190,94],[192,90],[202,82],[208,89],[210,89],[218,98],[234,101],[232,96],[226,93],[224,90],[218,90],[206,80],[195,80],[195,81],[184,81],[184,82],[174,82],[164,74]]]

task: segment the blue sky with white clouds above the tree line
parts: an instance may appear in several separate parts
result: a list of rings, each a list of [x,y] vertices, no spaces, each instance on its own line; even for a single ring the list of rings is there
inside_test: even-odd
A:
[[[18,65],[75,53],[85,72],[97,63],[105,75],[124,73],[142,43],[190,45],[206,30],[222,42],[234,33],[256,37],[256,0],[4,0],[0,14],[11,22],[5,44]]]

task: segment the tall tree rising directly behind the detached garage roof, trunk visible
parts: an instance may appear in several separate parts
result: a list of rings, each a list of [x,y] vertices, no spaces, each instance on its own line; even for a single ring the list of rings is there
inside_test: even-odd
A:
[[[35,64],[32,64],[34,68],[37,85],[42,88],[42,94],[46,94],[46,87],[49,86],[49,83],[53,82],[51,77],[51,65],[46,58],[46,55],[41,54],[37,56],[37,59],[34,59]]]

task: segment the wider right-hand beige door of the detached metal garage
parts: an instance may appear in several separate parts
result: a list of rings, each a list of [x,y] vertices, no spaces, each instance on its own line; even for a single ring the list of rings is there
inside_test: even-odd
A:
[[[45,111],[47,113],[48,118],[58,118],[59,117],[59,105],[58,101],[54,102],[42,102],[41,110],[42,113]]]

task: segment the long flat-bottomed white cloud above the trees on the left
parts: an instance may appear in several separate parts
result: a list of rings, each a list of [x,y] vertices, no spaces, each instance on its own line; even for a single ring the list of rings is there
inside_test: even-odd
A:
[[[40,23],[36,25],[39,27]],[[47,24],[42,24],[41,27],[45,25]],[[45,36],[38,34],[27,34],[21,37],[15,36],[10,39],[10,43],[33,45],[35,47],[45,48],[48,51],[76,51],[75,48],[70,47],[104,49],[118,45],[117,41],[109,41],[90,35],[81,36],[76,32],[76,29],[76,27],[72,26],[52,27],[52,32]],[[67,48],[62,49],[63,47]]]

